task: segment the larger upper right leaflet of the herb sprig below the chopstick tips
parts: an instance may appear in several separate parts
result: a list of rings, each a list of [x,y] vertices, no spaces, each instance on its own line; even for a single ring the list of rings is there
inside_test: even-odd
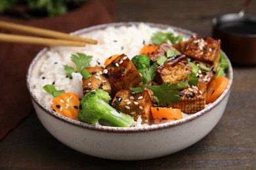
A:
[[[77,72],[81,73],[82,69],[85,67],[90,67],[90,62],[93,56],[87,56],[86,54],[77,52],[77,55],[72,54],[71,60],[75,63],[77,67]]]

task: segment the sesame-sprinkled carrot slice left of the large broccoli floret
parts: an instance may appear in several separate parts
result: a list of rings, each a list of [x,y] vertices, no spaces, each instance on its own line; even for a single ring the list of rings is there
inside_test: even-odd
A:
[[[68,92],[62,93],[53,100],[53,109],[68,118],[76,119],[78,116],[79,95]]]

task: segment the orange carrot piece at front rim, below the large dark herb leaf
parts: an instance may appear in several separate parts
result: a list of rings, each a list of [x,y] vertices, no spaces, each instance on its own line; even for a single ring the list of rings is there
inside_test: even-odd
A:
[[[150,107],[152,116],[159,120],[178,120],[182,118],[181,109],[167,107]]]

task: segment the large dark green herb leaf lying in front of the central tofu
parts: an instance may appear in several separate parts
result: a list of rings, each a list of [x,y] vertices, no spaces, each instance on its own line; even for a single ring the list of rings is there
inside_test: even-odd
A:
[[[166,106],[171,103],[179,103],[179,91],[177,89],[177,84],[170,84],[170,82],[165,82],[160,86],[147,86],[154,93],[154,99],[158,102],[160,106]]]

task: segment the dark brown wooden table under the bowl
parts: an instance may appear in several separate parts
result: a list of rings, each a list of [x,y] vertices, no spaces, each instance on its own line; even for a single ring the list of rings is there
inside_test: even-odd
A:
[[[211,35],[211,19],[238,12],[243,1],[119,1],[117,22],[158,22]],[[248,12],[256,14],[256,1]],[[114,161],[81,154],[60,143],[35,112],[0,141],[0,169],[256,169],[256,67],[234,67],[223,117],[198,143],[169,156]]]

